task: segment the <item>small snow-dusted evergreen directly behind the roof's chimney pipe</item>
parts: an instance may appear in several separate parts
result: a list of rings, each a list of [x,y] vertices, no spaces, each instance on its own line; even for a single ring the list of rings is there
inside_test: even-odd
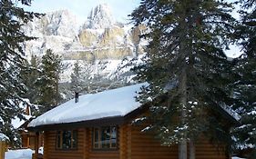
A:
[[[82,91],[82,89],[82,68],[77,61],[71,74],[71,91],[75,93]]]

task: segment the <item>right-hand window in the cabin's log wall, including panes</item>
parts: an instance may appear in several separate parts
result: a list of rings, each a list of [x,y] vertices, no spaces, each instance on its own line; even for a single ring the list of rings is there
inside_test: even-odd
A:
[[[93,131],[94,149],[116,149],[117,148],[117,127],[107,126],[94,128]]]

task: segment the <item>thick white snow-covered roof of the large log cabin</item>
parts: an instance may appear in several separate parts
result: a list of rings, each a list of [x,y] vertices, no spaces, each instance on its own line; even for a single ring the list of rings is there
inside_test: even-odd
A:
[[[106,117],[125,116],[140,106],[136,92],[144,84],[134,84],[97,94],[79,96],[78,103],[69,100],[32,120],[28,127],[46,124],[67,124]]]

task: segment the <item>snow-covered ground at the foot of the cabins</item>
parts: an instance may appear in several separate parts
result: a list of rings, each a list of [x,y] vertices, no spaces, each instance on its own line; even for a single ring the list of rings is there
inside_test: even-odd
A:
[[[5,153],[5,159],[32,159],[34,153],[31,149],[9,150]],[[240,157],[232,157],[232,159],[243,159]]]

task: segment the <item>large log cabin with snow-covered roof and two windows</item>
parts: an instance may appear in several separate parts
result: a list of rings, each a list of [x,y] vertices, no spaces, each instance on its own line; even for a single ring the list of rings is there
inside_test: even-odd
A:
[[[164,146],[153,133],[141,131],[145,125],[133,124],[148,112],[135,99],[142,85],[81,95],[31,121],[28,129],[36,132],[36,143],[39,132],[44,132],[44,159],[179,158],[178,145]],[[230,158],[205,137],[195,149],[197,159]],[[34,159],[37,154],[36,150]]]

